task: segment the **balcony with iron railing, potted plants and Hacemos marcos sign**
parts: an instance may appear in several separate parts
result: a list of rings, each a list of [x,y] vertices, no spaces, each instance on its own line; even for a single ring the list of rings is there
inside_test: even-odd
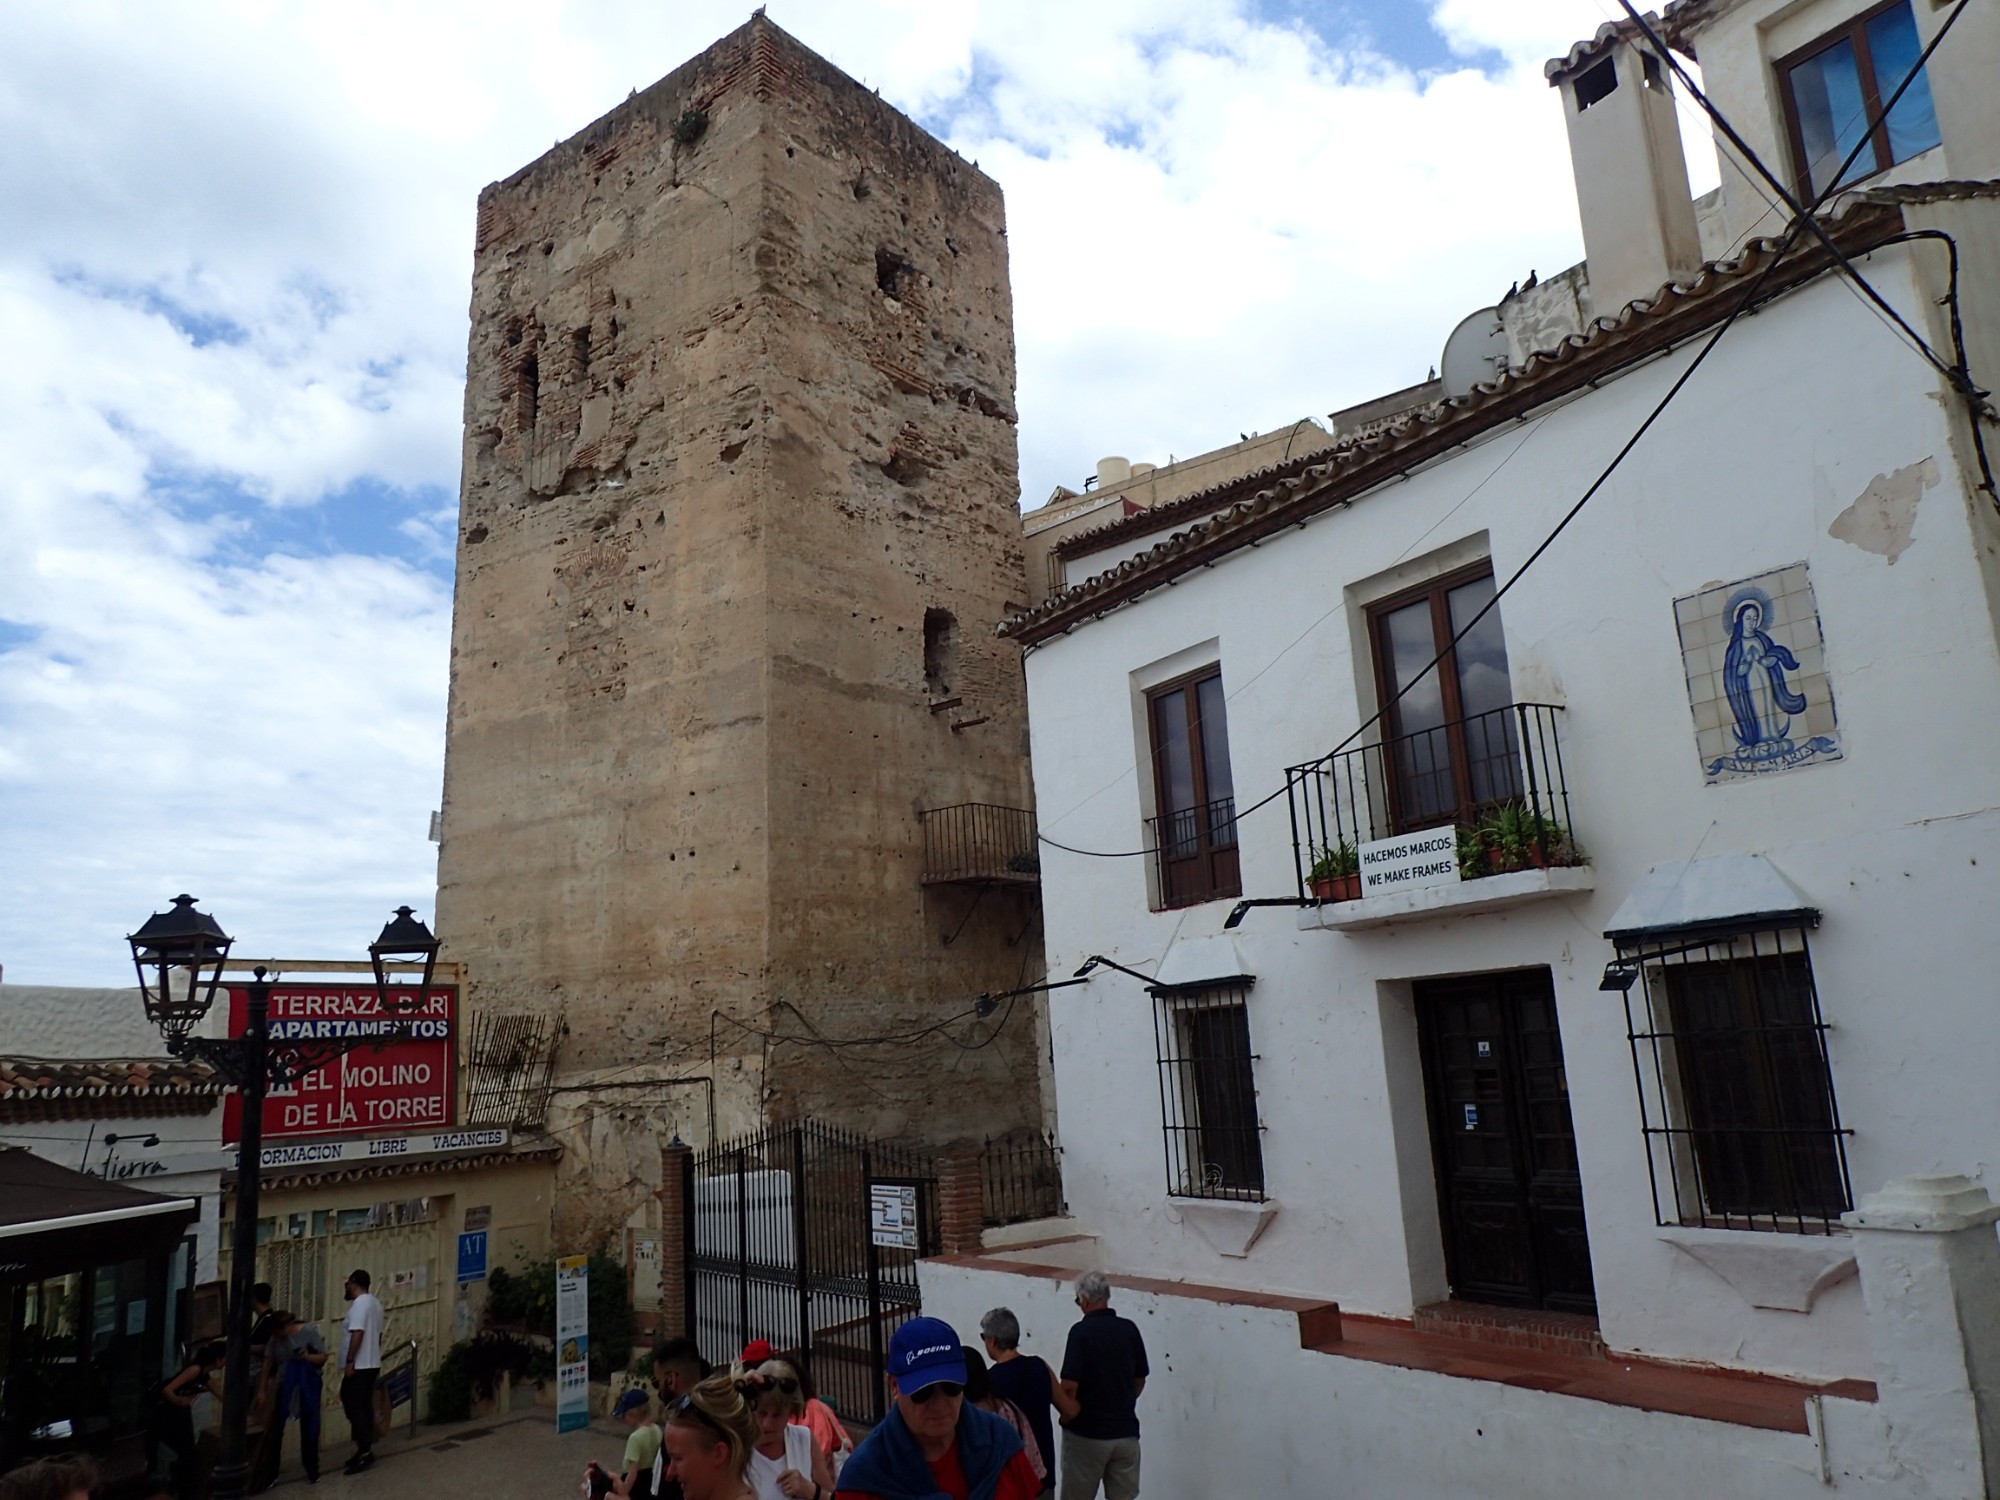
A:
[[[1440,910],[1492,910],[1590,890],[1562,766],[1562,708],[1508,704],[1286,770],[1308,926],[1358,928]],[[1378,888],[1368,854],[1450,830],[1456,882]]]

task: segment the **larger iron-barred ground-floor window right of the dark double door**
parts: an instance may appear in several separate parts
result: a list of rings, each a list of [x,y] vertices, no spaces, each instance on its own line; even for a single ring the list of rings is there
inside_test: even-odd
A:
[[[1854,1206],[1816,924],[1618,934],[1660,1224],[1826,1234]]]

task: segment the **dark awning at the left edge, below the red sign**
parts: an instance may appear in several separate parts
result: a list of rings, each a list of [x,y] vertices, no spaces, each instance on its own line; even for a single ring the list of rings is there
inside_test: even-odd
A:
[[[166,1254],[198,1214],[194,1198],[164,1198],[20,1146],[0,1148],[0,1282]]]

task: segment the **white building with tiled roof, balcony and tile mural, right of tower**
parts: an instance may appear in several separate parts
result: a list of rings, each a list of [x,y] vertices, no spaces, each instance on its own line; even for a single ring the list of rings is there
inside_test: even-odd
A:
[[[1798,178],[1952,14],[1668,22]],[[1936,1180],[2000,1160],[2000,426],[1818,238],[1696,264],[1760,202],[1696,214],[1632,32],[1550,74],[1590,268],[1496,314],[1532,356],[1066,538],[1006,626],[1042,832],[1120,856],[1044,846],[1050,970],[1110,962],[1050,996],[1072,1222],[926,1310],[1058,1356],[1110,1270],[1150,1496],[2000,1492],[1994,1210]],[[1972,0],[1822,216],[1986,384],[1996,76]]]

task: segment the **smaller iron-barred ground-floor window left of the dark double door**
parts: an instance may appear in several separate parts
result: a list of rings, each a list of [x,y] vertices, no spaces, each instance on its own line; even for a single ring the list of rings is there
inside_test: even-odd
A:
[[[1168,1194],[1260,1200],[1250,980],[1152,994]]]

